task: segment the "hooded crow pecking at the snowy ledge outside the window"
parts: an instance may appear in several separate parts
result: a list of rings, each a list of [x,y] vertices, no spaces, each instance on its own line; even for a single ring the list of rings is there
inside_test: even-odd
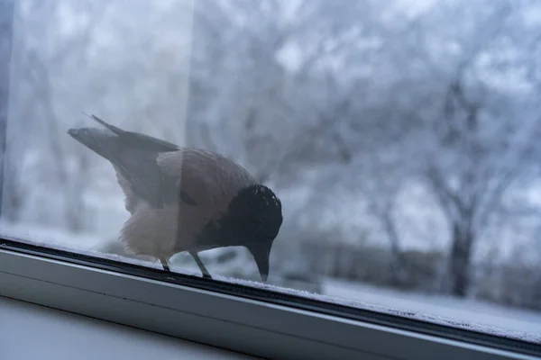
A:
[[[188,252],[203,277],[212,279],[199,252],[246,247],[266,283],[283,221],[271,188],[214,151],[179,147],[87,116],[101,127],[71,128],[68,134],[115,168],[130,212],[119,236],[127,251],[159,260],[166,272],[170,257]]]

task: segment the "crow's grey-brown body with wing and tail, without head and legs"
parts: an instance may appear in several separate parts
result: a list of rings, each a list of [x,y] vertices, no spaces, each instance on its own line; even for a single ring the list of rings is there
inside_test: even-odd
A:
[[[242,166],[219,154],[179,148],[91,117],[107,130],[71,129],[69,134],[115,167],[132,214],[121,238],[135,254],[169,258],[197,249],[200,230],[223,216],[241,189],[255,184]]]

